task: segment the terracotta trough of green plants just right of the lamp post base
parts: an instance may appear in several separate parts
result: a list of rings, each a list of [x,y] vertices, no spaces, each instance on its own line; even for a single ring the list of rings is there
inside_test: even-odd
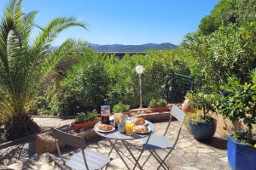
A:
[[[148,105],[148,113],[170,111],[166,99],[151,99]]]

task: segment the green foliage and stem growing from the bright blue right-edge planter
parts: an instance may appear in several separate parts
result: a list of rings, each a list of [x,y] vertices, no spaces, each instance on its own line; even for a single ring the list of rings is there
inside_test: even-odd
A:
[[[241,83],[235,77],[230,77],[223,90],[227,97],[219,100],[218,113],[229,117],[231,121],[242,120],[247,125],[248,143],[252,142],[253,124],[256,124],[256,70],[251,75],[251,82]]]

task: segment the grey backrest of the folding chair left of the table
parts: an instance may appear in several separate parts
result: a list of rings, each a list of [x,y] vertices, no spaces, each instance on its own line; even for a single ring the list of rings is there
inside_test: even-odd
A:
[[[86,148],[84,138],[80,136],[74,136],[72,134],[64,133],[56,128],[51,128],[51,132],[55,136],[55,139],[59,140],[64,144],[71,145],[80,149]]]

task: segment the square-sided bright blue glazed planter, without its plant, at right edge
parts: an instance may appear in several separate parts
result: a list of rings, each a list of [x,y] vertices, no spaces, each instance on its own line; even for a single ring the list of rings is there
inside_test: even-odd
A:
[[[256,149],[228,136],[228,159],[232,170],[256,170]]]

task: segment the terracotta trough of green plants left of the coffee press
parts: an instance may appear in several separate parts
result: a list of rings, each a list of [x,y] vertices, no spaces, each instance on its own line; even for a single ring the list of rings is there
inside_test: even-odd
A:
[[[87,130],[94,127],[96,122],[99,122],[101,119],[97,117],[96,110],[91,112],[80,112],[75,116],[75,122],[71,123],[71,128],[73,131],[78,132],[81,128]]]

